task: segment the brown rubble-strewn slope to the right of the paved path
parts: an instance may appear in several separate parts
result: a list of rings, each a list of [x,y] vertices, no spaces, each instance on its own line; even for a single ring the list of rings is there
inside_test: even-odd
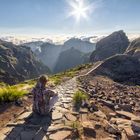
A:
[[[88,101],[88,104],[91,102],[88,106],[92,109],[90,123],[96,124],[95,130],[96,126],[102,128],[102,134],[107,132],[113,140],[139,140],[139,86],[123,85],[103,76],[89,75],[80,78],[82,89],[90,96]]]

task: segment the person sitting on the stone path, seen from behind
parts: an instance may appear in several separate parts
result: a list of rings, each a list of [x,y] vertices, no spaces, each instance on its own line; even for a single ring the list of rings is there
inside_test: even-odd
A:
[[[46,88],[47,81],[47,76],[41,76],[32,90],[33,112],[40,115],[48,114],[58,100],[58,95]]]

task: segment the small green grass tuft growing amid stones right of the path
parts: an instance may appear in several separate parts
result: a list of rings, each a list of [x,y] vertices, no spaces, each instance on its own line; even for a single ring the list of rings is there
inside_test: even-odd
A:
[[[85,101],[87,99],[88,99],[88,95],[85,92],[81,90],[76,91],[73,96],[73,103],[76,109],[79,110],[82,105],[82,101]]]

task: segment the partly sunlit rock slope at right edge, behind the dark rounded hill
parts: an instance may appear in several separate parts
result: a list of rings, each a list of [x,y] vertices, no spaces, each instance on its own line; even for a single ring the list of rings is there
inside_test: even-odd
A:
[[[125,53],[140,60],[140,38],[133,40]]]

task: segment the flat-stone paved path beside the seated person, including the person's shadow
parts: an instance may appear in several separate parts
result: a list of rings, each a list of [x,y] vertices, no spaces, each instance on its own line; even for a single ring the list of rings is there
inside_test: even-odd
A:
[[[72,115],[72,95],[77,90],[76,78],[57,86],[59,100],[50,116],[32,115],[31,106],[25,108],[14,122],[9,122],[0,132],[0,140],[61,140],[72,134],[67,122],[76,121]],[[59,130],[59,131],[58,131]]]

